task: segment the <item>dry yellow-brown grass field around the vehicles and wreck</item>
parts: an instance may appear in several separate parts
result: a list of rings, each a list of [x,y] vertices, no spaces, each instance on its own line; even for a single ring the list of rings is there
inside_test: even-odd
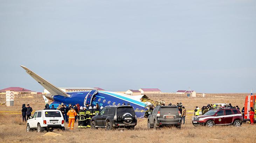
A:
[[[210,95],[210,94],[208,94]],[[244,97],[246,94],[211,94],[210,97],[196,97],[196,98],[161,98],[166,103],[176,104],[182,102],[187,110],[194,110],[195,106],[202,107],[203,105],[212,103],[231,103],[233,106],[238,105],[241,109],[244,104]],[[157,100],[157,98],[154,98]],[[159,99],[159,98],[158,98]],[[0,99],[4,102],[5,99]],[[114,130],[106,131],[105,129],[91,130],[82,129],[66,131],[53,131],[53,133],[31,133],[26,132],[26,125],[21,120],[21,114],[2,114],[5,111],[14,113],[13,111],[21,111],[21,105],[30,104],[33,110],[40,110],[44,108],[44,100],[42,98],[16,98],[15,106],[6,107],[0,106],[0,142],[256,142],[254,130],[256,125],[251,126],[244,123],[241,127],[233,126],[215,126],[208,127],[194,127],[191,123],[193,112],[188,112],[185,125],[181,129],[176,128],[162,128],[158,130],[148,130],[147,120],[139,119],[135,130]],[[65,124],[67,128],[67,125]],[[75,124],[77,127],[77,123]],[[55,134],[56,133],[56,134]]]

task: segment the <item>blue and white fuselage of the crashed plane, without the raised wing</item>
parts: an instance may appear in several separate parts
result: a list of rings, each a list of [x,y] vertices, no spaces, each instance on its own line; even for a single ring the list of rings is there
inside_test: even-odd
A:
[[[86,106],[86,104],[89,104],[93,107],[96,106],[96,104],[98,103],[99,106],[105,107],[108,105],[120,106],[123,103],[125,103],[126,105],[130,103],[134,111],[136,111],[135,113],[138,118],[142,118],[145,114],[145,111],[147,110],[147,105],[145,103],[138,100],[134,100],[130,98],[128,95],[122,93],[97,90],[66,93],[68,93],[70,97],[55,95],[53,97],[54,102],[52,103],[52,105],[58,106],[58,104],[64,103],[72,105],[79,104],[80,106]]]

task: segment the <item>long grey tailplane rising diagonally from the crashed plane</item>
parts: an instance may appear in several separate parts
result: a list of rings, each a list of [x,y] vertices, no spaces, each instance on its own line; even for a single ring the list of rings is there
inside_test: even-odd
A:
[[[39,75],[37,75],[36,73],[34,73],[33,71],[31,71],[30,69],[28,69],[25,66],[20,65],[23,69],[26,70],[26,72],[33,77],[39,84],[41,84],[45,89],[47,89],[53,96],[54,95],[61,95],[61,96],[65,96],[65,97],[70,97],[70,95],[68,95],[67,93],[65,93],[64,91],[62,91],[61,89],[57,88],[56,86],[54,86],[53,84],[49,83],[48,81],[44,80],[42,77],[40,77]]]

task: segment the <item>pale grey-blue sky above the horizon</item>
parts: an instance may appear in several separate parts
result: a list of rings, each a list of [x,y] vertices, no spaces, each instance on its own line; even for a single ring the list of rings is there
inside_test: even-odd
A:
[[[255,0],[0,0],[0,89],[249,93],[255,53]]]

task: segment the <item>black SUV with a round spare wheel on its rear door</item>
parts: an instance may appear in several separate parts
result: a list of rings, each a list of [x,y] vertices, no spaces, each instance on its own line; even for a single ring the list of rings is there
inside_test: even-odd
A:
[[[132,106],[106,106],[91,119],[91,128],[127,128],[134,129],[137,116]]]

